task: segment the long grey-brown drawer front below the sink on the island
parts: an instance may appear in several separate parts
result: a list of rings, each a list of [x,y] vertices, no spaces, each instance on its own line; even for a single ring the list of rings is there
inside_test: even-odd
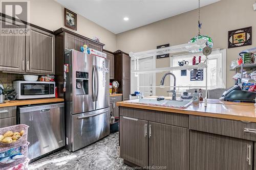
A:
[[[127,116],[157,122],[167,125],[174,125],[188,128],[188,115],[179,113],[162,112],[156,110],[136,109],[119,106],[120,116]]]

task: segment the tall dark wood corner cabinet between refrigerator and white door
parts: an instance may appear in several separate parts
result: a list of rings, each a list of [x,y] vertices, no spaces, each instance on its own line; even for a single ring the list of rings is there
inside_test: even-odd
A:
[[[129,100],[131,93],[131,58],[120,50],[114,52],[115,80],[120,84],[118,93],[123,94],[123,101]]]

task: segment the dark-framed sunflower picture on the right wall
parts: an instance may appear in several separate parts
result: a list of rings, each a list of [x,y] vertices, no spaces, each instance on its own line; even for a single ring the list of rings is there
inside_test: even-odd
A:
[[[228,48],[251,45],[251,27],[228,32]]]

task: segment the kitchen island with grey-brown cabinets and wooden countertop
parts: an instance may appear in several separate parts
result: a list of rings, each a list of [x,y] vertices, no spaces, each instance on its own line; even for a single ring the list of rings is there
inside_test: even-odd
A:
[[[131,166],[256,169],[253,104],[209,100],[186,109],[118,102],[120,157]]]

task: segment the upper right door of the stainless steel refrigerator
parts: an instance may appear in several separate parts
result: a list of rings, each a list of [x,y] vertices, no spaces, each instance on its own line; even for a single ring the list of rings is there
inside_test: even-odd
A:
[[[96,66],[96,100],[95,109],[102,109],[109,107],[110,96],[109,96],[109,84],[110,74],[105,72],[105,68],[109,67],[109,60],[102,57],[95,56]]]

